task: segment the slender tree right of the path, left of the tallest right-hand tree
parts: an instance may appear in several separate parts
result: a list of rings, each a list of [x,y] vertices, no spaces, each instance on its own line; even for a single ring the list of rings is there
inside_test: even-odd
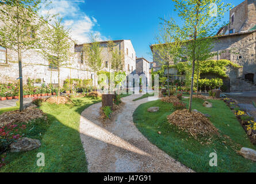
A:
[[[166,24],[167,23],[167,24]],[[164,21],[158,36],[155,37],[156,44],[152,45],[152,54],[156,62],[163,65],[167,69],[167,88],[170,97],[169,71],[170,65],[176,64],[179,60],[181,49],[181,41],[179,39],[178,27],[171,21]],[[163,82],[163,81],[162,81]]]

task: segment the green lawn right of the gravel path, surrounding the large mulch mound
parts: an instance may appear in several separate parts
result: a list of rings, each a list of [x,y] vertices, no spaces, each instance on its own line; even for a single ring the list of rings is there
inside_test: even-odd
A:
[[[183,99],[187,106],[189,99]],[[235,115],[222,101],[209,100],[213,108],[202,106],[202,99],[193,99],[192,109],[211,115],[211,122],[222,134],[230,136],[242,147],[253,148]],[[149,113],[151,106],[159,106],[159,112]],[[133,114],[136,127],[151,143],[197,172],[256,172],[256,163],[236,154],[231,143],[224,144],[222,139],[215,139],[210,145],[189,137],[188,133],[178,131],[177,127],[167,122],[166,116],[174,111],[172,104],[160,100],[140,105]],[[161,135],[158,134],[161,131]],[[240,148],[240,147],[239,147]],[[217,152],[217,167],[209,166],[209,154]]]

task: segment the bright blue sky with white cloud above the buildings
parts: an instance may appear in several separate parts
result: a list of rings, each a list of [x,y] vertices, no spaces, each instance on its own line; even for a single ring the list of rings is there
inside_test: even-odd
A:
[[[244,0],[223,0],[238,5]],[[149,45],[159,28],[159,17],[178,18],[171,0],[52,0],[42,13],[59,13],[71,36],[86,43],[90,33],[101,40],[131,40],[137,57],[152,62]],[[224,17],[228,21],[229,13]]]

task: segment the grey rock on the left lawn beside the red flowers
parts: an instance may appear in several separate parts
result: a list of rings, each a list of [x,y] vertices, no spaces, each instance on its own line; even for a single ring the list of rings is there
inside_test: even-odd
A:
[[[40,146],[41,146],[40,140],[24,137],[10,144],[10,151],[11,152],[30,151]]]

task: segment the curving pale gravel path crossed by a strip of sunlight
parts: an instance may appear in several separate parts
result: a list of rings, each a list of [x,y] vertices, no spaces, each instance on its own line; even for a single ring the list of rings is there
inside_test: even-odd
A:
[[[147,98],[122,99],[123,110],[109,123],[98,120],[101,103],[81,114],[80,137],[90,172],[193,172],[151,144],[133,123],[132,114]]]

